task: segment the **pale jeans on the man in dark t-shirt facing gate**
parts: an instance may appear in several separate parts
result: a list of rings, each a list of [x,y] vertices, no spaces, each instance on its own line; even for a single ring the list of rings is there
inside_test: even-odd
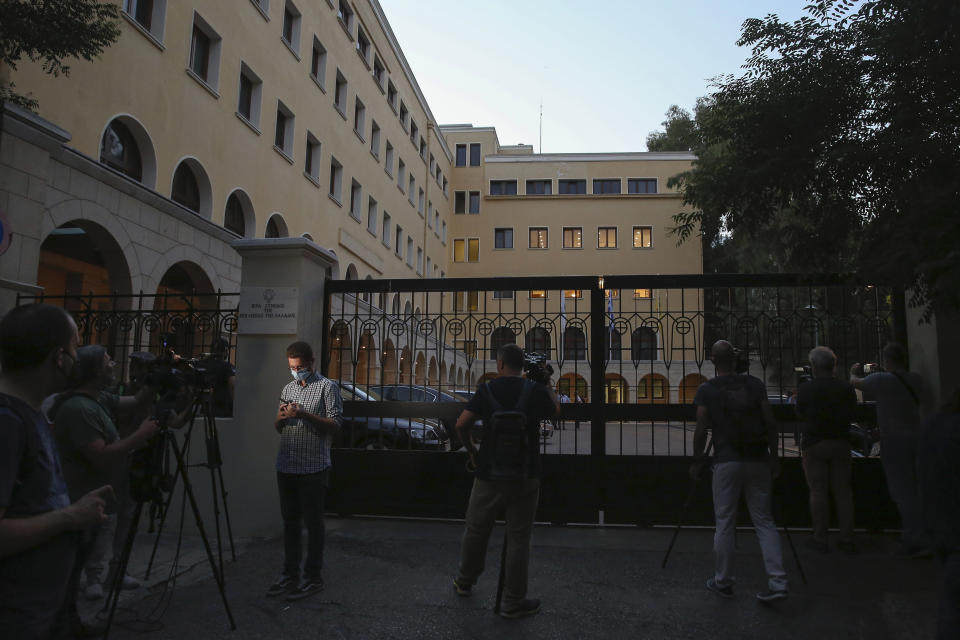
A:
[[[713,468],[713,511],[717,532],[713,538],[716,566],[714,579],[721,587],[736,581],[734,573],[736,550],[734,533],[737,525],[737,504],[743,492],[750,519],[757,532],[763,565],[767,571],[767,586],[774,591],[787,587],[783,570],[783,552],[780,533],[773,522],[770,507],[770,465],[767,462],[720,462]]]

